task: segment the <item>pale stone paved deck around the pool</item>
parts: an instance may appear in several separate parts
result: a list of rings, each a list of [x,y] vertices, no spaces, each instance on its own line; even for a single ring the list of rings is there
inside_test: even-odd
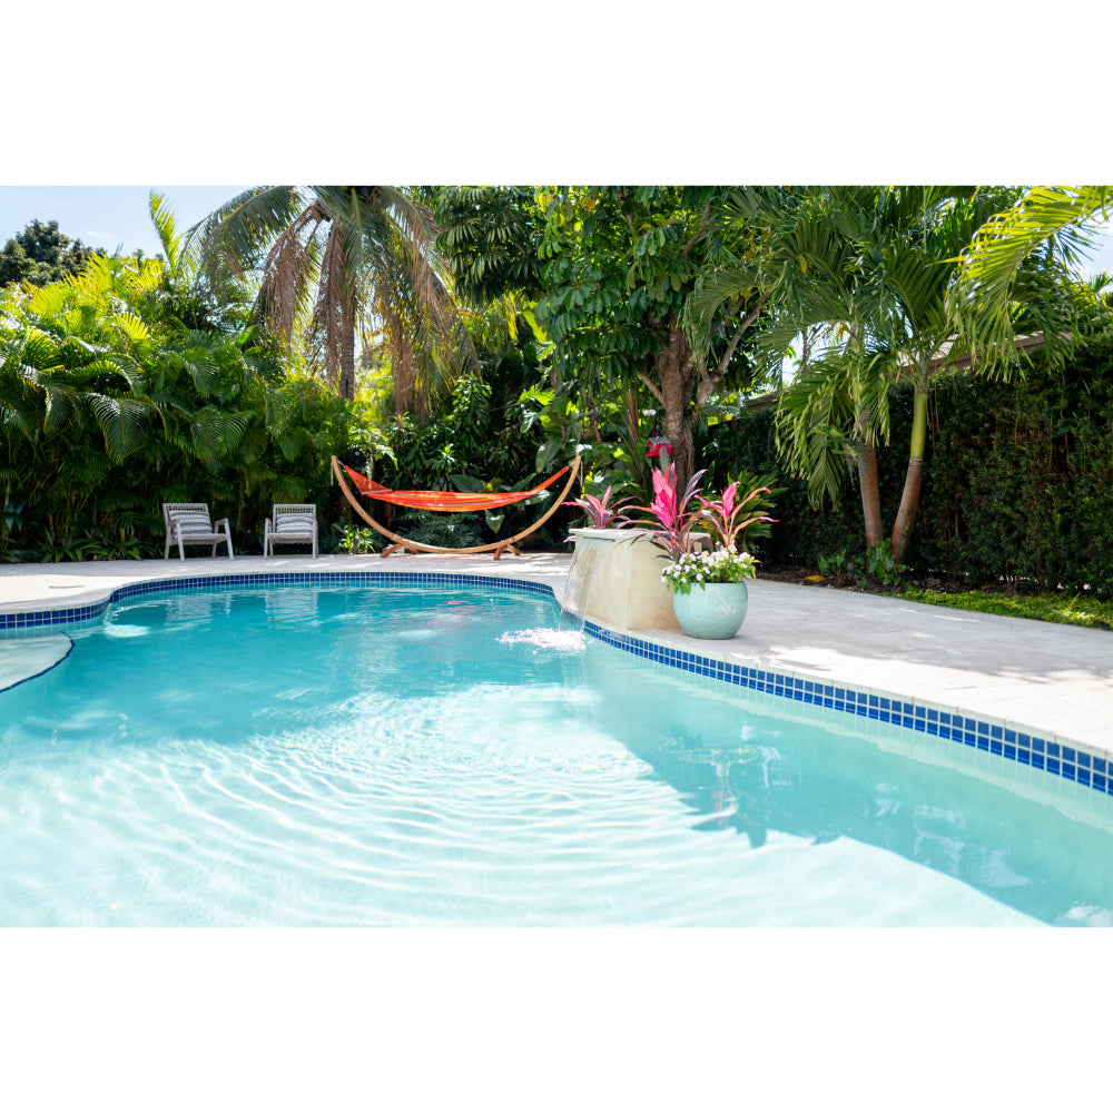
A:
[[[97,603],[125,584],[259,572],[453,572],[534,580],[558,599],[571,558],[216,556],[0,565],[0,614]],[[899,599],[758,579],[738,637],[658,644],[751,668],[902,696],[1113,752],[1113,632],[978,614]],[[43,631],[49,632],[49,628]]]

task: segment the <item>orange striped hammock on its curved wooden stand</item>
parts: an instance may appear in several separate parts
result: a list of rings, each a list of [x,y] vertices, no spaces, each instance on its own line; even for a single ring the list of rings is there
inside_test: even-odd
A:
[[[336,475],[336,482],[339,484],[344,498],[351,503],[353,510],[355,510],[355,512],[368,525],[382,533],[383,536],[394,542],[390,548],[383,551],[383,556],[390,556],[391,553],[396,552],[398,549],[407,550],[413,553],[426,552],[445,554],[480,553],[494,550],[495,560],[498,560],[504,552],[518,553],[519,550],[515,548],[515,542],[521,541],[523,538],[529,536],[535,530],[540,529],[544,522],[560,509],[561,503],[564,502],[569,492],[572,490],[572,484],[575,482],[575,477],[580,471],[580,457],[575,456],[571,464],[562,467],[555,475],[551,475],[548,480],[545,480],[544,483],[539,483],[535,487],[531,487],[529,491],[505,491],[499,492],[498,494],[469,494],[463,491],[395,491],[392,487],[383,486],[382,483],[375,483],[373,480],[368,480],[366,475],[348,467],[347,464],[342,464],[335,456],[333,456],[332,463],[333,472]],[[515,502],[523,502],[526,499],[532,499],[533,495],[539,494],[541,491],[544,491],[545,487],[555,483],[556,480],[559,480],[565,472],[569,473],[569,477],[568,482],[564,484],[564,490],[558,499],[553,500],[549,510],[545,511],[545,513],[531,526],[522,530],[520,533],[515,533],[512,538],[506,538],[502,541],[492,541],[485,545],[475,545],[471,549],[440,549],[435,545],[425,545],[417,541],[408,541],[405,538],[398,536],[396,533],[392,533],[385,525],[375,521],[375,519],[371,516],[356,498],[356,494],[354,494],[348,486],[348,482],[351,482],[358,494],[368,499],[376,499],[380,502],[387,502],[395,506],[411,506],[418,510],[466,513],[477,510],[494,510],[499,506],[511,506]]]

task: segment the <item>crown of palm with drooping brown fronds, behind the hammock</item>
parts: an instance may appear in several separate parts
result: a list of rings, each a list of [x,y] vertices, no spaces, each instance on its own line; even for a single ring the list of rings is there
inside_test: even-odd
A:
[[[259,186],[190,229],[210,276],[255,272],[257,309],[287,351],[355,396],[356,336],[377,329],[395,406],[424,413],[474,353],[415,190],[393,186]]]

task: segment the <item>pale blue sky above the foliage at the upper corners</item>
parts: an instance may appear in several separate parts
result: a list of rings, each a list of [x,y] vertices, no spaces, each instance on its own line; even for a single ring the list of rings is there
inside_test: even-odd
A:
[[[158,252],[158,236],[147,213],[151,189],[170,201],[180,232],[208,216],[246,186],[0,186],[0,246],[31,220],[57,220],[67,236],[91,247],[125,253]],[[1113,274],[1113,229],[1104,237],[1089,270]]]

